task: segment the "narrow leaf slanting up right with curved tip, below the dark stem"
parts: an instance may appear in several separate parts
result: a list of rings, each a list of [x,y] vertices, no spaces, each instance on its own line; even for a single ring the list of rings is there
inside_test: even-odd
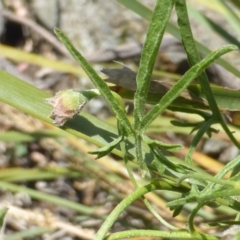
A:
[[[155,105],[148,114],[142,120],[142,126],[146,129],[147,126],[159,115],[161,114],[170,104],[173,102],[177,96],[184,91],[191,83],[192,80],[196,79],[202,71],[212,64],[217,58],[222,56],[225,53],[236,50],[237,47],[234,45],[227,45],[221,49],[212,52],[206,58],[204,58],[200,63],[193,66],[189,69],[182,78],[171,88]]]

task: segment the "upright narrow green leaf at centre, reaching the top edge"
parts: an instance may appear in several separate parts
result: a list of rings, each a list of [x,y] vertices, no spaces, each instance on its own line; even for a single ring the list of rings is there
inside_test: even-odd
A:
[[[158,0],[152,15],[146,40],[143,45],[140,66],[136,79],[137,90],[134,97],[135,128],[137,128],[144,116],[145,103],[148,95],[148,88],[151,81],[153,67],[174,2],[174,0]]]

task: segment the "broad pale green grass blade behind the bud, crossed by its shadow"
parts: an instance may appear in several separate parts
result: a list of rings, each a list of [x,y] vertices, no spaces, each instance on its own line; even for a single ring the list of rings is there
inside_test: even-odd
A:
[[[0,70],[0,101],[20,109],[51,125],[51,106],[44,99],[51,95]],[[81,112],[63,127],[68,133],[97,146],[104,146],[117,138],[117,129],[94,116]],[[66,135],[64,131],[62,134]],[[120,154],[119,151],[115,154]],[[120,154],[121,155],[121,154]]]

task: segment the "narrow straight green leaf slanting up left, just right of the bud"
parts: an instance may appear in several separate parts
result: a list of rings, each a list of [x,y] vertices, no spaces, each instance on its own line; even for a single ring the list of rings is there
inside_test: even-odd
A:
[[[91,65],[87,62],[87,60],[76,50],[76,48],[72,45],[69,39],[58,29],[55,29],[55,34],[59,38],[59,40],[65,45],[65,47],[69,50],[74,59],[80,64],[83,70],[86,72],[88,77],[91,79],[93,84],[98,88],[101,95],[104,97],[106,102],[111,107],[112,111],[116,114],[119,122],[123,125],[128,133],[133,133],[133,129],[131,124],[113,94],[111,93],[108,85],[98,76],[95,70],[91,67]]]

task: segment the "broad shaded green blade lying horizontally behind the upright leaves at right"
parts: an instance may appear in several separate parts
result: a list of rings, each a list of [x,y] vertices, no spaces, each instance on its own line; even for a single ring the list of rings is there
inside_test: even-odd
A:
[[[118,85],[117,85],[118,86]],[[123,88],[123,87],[111,87],[112,91],[116,91],[122,98],[133,100],[134,91]],[[206,112],[201,112],[197,109],[202,110],[210,110],[208,103],[206,100],[206,96],[204,95],[200,85],[198,84],[190,84],[187,88],[189,93],[192,93],[192,100],[182,98],[178,96],[167,108],[172,111],[180,111],[186,113],[195,113],[202,116],[206,115]],[[229,120],[234,125],[240,125],[240,90],[228,89],[220,86],[211,85],[212,94],[217,102],[218,108],[221,112],[226,114],[229,117]],[[157,104],[166,92],[159,93],[148,93],[147,103],[155,105]],[[195,101],[194,99],[202,98],[202,102]],[[209,114],[208,114],[209,115]],[[184,123],[186,126],[187,123]],[[191,125],[191,124],[190,124]],[[190,126],[189,125],[189,126]],[[191,125],[193,126],[193,125]],[[156,129],[159,131],[160,129]],[[180,129],[178,129],[179,131]],[[183,129],[181,129],[182,131]],[[164,129],[162,129],[164,131]],[[234,131],[235,132],[235,131]],[[236,137],[236,132],[234,134]]]

